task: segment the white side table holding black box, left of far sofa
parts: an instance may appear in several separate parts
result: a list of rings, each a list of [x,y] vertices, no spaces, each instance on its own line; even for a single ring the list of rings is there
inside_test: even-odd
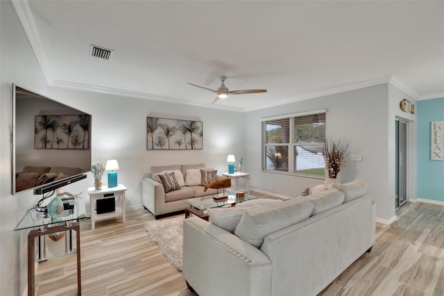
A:
[[[94,187],[88,188],[88,194],[90,197],[89,204],[91,204],[91,229],[94,229],[96,221],[110,219],[114,217],[122,217],[123,223],[125,223],[126,214],[126,200],[125,200],[126,187],[119,184],[117,187],[108,188],[108,186],[102,186],[101,190],[96,190]],[[115,197],[116,199],[116,211],[110,213],[97,214],[96,212],[96,200]]]

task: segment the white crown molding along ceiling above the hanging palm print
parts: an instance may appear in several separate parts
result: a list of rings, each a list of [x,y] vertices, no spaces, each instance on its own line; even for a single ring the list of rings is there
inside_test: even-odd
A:
[[[85,83],[74,83],[70,81],[61,81],[55,80],[50,83],[51,86],[56,88],[69,88],[71,90],[83,90],[87,92],[98,92],[102,94],[114,94],[123,97],[133,97],[138,99],[149,99],[153,101],[162,101],[164,103],[171,104],[182,104],[182,105],[190,105],[190,106],[198,106],[205,108],[214,108],[214,109],[222,109],[222,110],[230,110],[235,112],[244,112],[242,108],[230,107],[230,106],[221,106],[214,105],[210,103],[203,103],[200,101],[191,101],[186,99],[178,99],[174,97],[161,96],[159,94],[149,94],[147,92],[134,92],[131,90],[120,90],[117,88],[103,88],[96,85],[89,85]]]

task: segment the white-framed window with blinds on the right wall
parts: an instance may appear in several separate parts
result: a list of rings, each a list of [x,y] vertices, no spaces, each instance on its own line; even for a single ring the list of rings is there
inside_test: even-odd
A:
[[[262,119],[262,170],[325,176],[325,110]]]

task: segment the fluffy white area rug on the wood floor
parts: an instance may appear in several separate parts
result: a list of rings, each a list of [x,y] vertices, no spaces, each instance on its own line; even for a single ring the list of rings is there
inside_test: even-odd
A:
[[[183,220],[185,220],[185,217],[180,215],[145,224],[148,235],[157,242],[171,265],[179,271],[182,271]]]

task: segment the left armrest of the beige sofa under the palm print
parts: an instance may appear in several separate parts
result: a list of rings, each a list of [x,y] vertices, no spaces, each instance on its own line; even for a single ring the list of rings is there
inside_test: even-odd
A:
[[[165,204],[164,186],[151,178],[142,179],[142,203],[153,215],[160,215]]]

